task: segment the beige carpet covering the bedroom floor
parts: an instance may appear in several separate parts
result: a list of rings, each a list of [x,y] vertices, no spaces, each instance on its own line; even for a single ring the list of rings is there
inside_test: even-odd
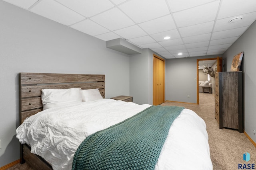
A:
[[[252,145],[244,133],[231,129],[219,129],[214,118],[214,96],[212,94],[199,93],[199,105],[180,102],[165,102],[162,105],[184,106],[204,119],[214,170],[236,170],[238,164],[256,164],[256,147]],[[246,152],[250,153],[251,159],[248,162],[243,160],[243,154]],[[8,170],[32,170],[32,168],[25,163],[16,164]]]

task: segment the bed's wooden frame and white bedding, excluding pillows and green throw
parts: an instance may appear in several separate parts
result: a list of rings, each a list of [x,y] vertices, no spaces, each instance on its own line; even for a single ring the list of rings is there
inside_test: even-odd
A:
[[[43,109],[42,89],[72,88],[98,89],[102,98]],[[34,169],[69,170],[84,139],[153,107],[104,96],[105,75],[20,73],[20,162]],[[212,162],[204,121],[183,109],[171,124],[154,169],[187,168],[212,170]]]

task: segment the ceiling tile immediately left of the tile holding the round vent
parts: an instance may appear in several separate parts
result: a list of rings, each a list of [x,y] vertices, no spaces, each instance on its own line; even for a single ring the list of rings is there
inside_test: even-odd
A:
[[[211,33],[214,25],[214,21],[200,23],[188,27],[179,28],[180,35],[182,37],[189,37],[193,35],[200,35],[205,33]]]

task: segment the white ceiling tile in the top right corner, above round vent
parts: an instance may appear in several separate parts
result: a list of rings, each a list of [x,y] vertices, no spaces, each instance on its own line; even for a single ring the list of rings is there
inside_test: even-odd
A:
[[[239,16],[250,12],[256,12],[256,0],[222,0],[217,19]]]

